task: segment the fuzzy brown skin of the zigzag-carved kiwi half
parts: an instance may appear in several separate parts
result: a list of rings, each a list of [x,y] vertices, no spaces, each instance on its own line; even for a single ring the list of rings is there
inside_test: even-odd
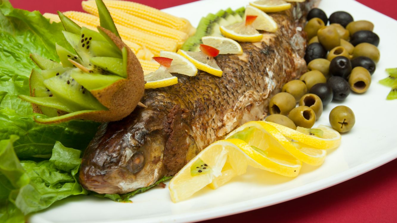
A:
[[[76,112],[76,115],[69,113],[64,118],[62,116],[46,119],[37,118],[37,122],[51,124],[66,122],[72,119],[85,119],[96,122],[117,121],[128,116],[138,105],[145,90],[145,80],[141,63],[139,63],[131,49],[113,32],[103,27],[97,28],[104,32],[116,44],[119,50],[122,50],[124,47],[127,49],[127,78],[118,80],[106,88],[91,91],[94,97],[108,108],[108,110]]]

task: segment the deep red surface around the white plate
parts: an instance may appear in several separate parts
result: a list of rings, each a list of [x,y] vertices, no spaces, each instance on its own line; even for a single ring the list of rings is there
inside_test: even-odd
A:
[[[15,8],[41,13],[81,11],[81,0],[10,0]],[[135,0],[158,9],[194,0]],[[358,0],[362,4],[397,19],[396,0]],[[343,7],[343,6],[341,6]],[[396,37],[397,38],[397,37]],[[328,189],[288,202],[251,212],[202,223],[218,222],[397,222],[397,160]]]

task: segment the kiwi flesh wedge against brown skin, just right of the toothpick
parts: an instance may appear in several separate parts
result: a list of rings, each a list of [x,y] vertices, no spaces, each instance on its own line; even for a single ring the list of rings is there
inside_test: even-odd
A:
[[[111,72],[122,77],[127,77],[123,69],[123,59],[114,57],[92,57],[91,64],[96,67],[102,67],[105,71]]]

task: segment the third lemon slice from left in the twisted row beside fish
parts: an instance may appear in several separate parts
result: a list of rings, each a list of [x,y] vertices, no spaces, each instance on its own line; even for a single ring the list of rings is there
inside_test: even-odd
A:
[[[291,160],[292,156],[304,163],[318,165],[318,163],[322,163],[324,161],[326,156],[326,153],[322,154],[323,156],[318,156],[318,151],[310,151],[315,149],[312,149],[309,146],[291,143],[291,141],[284,137],[276,128],[262,121],[247,122],[233,132],[237,133],[240,131],[246,132],[245,139],[243,140],[247,141],[249,145],[258,147],[264,151],[272,151],[272,149],[274,149],[273,147],[281,145],[283,149],[288,152],[288,154],[277,154],[276,158],[278,159]],[[233,134],[233,132],[229,133],[229,135]],[[229,135],[227,135],[226,138],[229,137]],[[268,135],[270,135],[272,138]],[[276,141],[272,142],[271,139],[275,139]]]

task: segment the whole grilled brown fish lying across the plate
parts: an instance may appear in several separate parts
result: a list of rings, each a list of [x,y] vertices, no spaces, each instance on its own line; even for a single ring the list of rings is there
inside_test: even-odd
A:
[[[243,55],[218,55],[221,78],[200,72],[179,83],[146,90],[137,108],[102,124],[83,156],[80,183],[97,193],[127,193],[174,175],[210,143],[236,127],[262,120],[272,95],[306,72],[305,15],[319,0],[270,13],[276,33],[241,43]]]

